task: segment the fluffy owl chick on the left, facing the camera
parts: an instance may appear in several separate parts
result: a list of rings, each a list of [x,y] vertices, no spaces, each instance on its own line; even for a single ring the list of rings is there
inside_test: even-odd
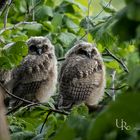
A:
[[[24,99],[46,102],[54,93],[57,82],[54,46],[46,37],[31,37],[27,45],[28,55],[13,70],[8,89]]]

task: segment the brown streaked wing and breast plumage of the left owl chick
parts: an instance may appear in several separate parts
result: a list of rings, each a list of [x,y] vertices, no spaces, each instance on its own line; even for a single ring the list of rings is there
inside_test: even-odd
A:
[[[29,93],[37,89],[41,82],[47,79],[50,69],[48,57],[26,56],[21,64],[13,70],[13,78],[7,84],[10,91],[14,93]]]

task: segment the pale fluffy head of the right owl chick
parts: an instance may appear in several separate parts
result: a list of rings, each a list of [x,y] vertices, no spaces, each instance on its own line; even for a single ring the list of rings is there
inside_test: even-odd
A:
[[[95,44],[80,42],[66,53],[66,57],[72,57],[73,55],[79,55],[81,57],[92,59],[95,57],[99,57],[100,53],[97,50]]]

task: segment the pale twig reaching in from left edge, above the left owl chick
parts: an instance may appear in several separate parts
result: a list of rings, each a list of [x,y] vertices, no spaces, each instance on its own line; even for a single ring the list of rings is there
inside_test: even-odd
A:
[[[26,22],[26,21],[22,21],[22,22],[19,22],[19,23],[17,23],[17,24],[15,24],[15,25],[13,25],[13,26],[11,26],[11,27],[7,27],[7,28],[4,28],[4,29],[2,29],[2,30],[0,30],[0,34],[2,34],[3,32],[5,32],[5,31],[7,31],[7,30],[12,30],[12,29],[15,29],[15,28],[17,28],[18,26],[20,26],[20,25],[24,25],[24,24],[36,24],[37,22]]]

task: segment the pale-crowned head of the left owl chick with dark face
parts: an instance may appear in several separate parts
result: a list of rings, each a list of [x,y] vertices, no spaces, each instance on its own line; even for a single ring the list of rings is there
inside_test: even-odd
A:
[[[54,52],[54,46],[47,37],[31,37],[27,40],[29,54],[41,55],[47,52]]]

